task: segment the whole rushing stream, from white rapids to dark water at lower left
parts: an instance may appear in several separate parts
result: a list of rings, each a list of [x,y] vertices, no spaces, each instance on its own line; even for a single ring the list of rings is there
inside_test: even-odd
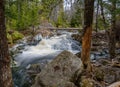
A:
[[[72,39],[71,32],[60,32],[61,35],[54,35],[50,38],[42,38],[42,36],[36,35],[34,39],[35,43],[28,43],[24,38],[17,45],[10,50],[13,53],[13,59],[15,66],[13,67],[13,80],[15,87],[29,87],[23,86],[26,81],[30,84],[29,76],[26,70],[32,64],[43,63],[46,64],[55,58],[63,50],[68,50],[74,54],[81,51],[81,43]],[[102,56],[108,56],[104,52],[96,52],[91,54],[91,59],[101,58]]]

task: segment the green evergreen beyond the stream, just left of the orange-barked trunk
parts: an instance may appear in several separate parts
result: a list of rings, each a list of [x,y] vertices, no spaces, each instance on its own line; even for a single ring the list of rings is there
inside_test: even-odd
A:
[[[71,15],[70,26],[71,27],[82,27],[84,23],[83,13],[84,5],[83,0],[75,0],[71,10],[74,10]]]

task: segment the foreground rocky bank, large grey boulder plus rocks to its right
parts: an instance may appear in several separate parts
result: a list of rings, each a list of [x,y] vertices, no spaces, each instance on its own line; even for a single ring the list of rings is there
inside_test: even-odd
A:
[[[112,61],[98,59],[91,63],[93,71],[84,72],[81,59],[63,51],[45,65],[32,87],[107,87],[120,81],[120,56]]]

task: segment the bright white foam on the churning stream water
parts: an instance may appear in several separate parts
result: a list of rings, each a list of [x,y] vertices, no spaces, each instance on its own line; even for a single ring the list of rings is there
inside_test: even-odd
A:
[[[18,65],[22,65],[23,62],[29,63],[42,58],[49,58],[54,56],[63,50],[68,50],[73,53],[79,52],[79,50],[72,50],[71,34],[63,34],[60,36],[54,36],[49,39],[42,39],[36,46],[26,46],[25,50],[19,54],[15,59]],[[48,55],[48,57],[46,57]]]

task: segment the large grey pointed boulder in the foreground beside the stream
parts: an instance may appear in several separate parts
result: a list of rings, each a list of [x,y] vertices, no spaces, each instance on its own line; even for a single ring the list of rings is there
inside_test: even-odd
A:
[[[73,77],[82,72],[82,61],[63,51],[37,75],[32,87],[76,87]]]

